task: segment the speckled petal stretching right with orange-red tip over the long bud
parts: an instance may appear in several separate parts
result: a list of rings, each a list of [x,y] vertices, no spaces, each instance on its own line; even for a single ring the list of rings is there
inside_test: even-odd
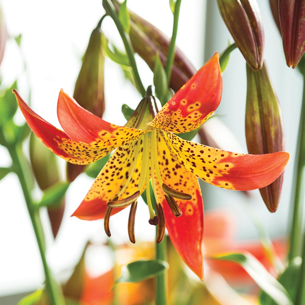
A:
[[[168,133],[172,149],[188,170],[212,185],[248,191],[272,183],[285,169],[288,152],[249,155],[193,143]]]

